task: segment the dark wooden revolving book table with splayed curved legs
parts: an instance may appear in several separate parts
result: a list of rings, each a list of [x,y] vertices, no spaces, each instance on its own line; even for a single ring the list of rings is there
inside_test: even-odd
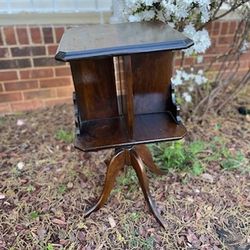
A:
[[[160,22],[84,25],[64,33],[56,59],[71,66],[75,147],[82,151],[115,149],[102,194],[85,216],[104,205],[119,171],[131,165],[149,208],[164,226],[144,166],[156,174],[163,172],[145,144],[178,140],[186,133],[170,79],[173,50],[192,44]]]

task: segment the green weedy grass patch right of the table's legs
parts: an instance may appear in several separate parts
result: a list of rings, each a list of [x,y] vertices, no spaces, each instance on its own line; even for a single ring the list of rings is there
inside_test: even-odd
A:
[[[243,170],[245,155],[237,150],[231,152],[223,138],[215,137],[210,143],[205,141],[154,144],[151,146],[155,160],[166,171],[202,174],[214,161],[219,161],[222,169]],[[249,169],[248,169],[249,170]]]

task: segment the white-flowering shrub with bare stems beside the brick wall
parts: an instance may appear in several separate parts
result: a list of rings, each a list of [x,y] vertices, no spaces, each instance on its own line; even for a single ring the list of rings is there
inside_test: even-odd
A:
[[[130,22],[160,20],[168,23],[175,29],[184,32],[194,41],[194,46],[182,51],[181,69],[176,70],[172,82],[182,92],[180,101],[196,107],[193,115],[202,113],[203,117],[208,110],[219,111],[224,104],[219,103],[227,97],[232,98],[240,83],[246,83],[248,76],[242,80],[235,80],[239,70],[239,58],[248,49],[250,32],[249,0],[120,0],[125,7],[123,20]],[[224,5],[227,9],[223,9]],[[223,10],[222,10],[223,9]],[[211,46],[211,40],[206,27],[209,23],[218,20],[229,13],[240,12],[242,22],[234,37],[234,42],[228,51],[215,58],[204,70],[183,68],[185,56],[196,57],[197,63],[203,61],[202,53]],[[240,28],[243,28],[240,29]],[[233,59],[232,59],[233,58]],[[230,59],[230,60],[228,60]],[[212,65],[220,61],[221,66],[214,79],[208,79],[206,74]],[[228,63],[229,62],[229,63]],[[226,73],[230,67],[230,72]],[[227,77],[227,79],[225,79]],[[229,87],[229,82],[230,87]],[[238,83],[237,83],[238,82]],[[243,85],[244,85],[243,84]],[[233,92],[232,92],[233,91]],[[227,95],[227,96],[225,96]]]

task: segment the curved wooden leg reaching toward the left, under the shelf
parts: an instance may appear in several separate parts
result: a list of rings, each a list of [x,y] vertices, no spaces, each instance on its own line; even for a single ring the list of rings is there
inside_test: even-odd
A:
[[[125,164],[125,160],[126,155],[124,151],[120,151],[111,159],[110,164],[107,167],[107,173],[104,181],[102,194],[97,203],[85,213],[85,218],[88,217],[94,211],[97,211],[105,204],[114,186],[116,176]]]

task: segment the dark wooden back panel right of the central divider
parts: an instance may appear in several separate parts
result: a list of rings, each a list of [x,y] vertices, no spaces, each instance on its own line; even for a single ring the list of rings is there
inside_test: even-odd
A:
[[[155,52],[131,56],[133,69],[134,113],[168,110],[173,52]]]

